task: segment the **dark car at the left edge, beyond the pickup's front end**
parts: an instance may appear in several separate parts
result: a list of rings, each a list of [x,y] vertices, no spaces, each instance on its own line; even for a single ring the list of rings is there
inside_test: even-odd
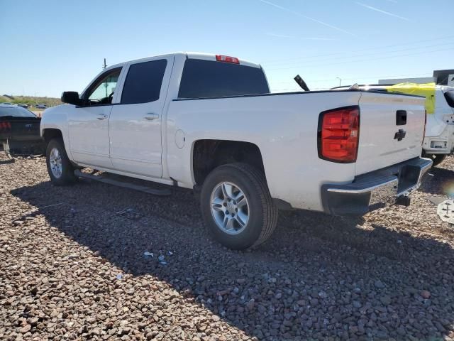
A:
[[[0,104],[0,146],[8,154],[44,153],[40,117],[18,105]]]

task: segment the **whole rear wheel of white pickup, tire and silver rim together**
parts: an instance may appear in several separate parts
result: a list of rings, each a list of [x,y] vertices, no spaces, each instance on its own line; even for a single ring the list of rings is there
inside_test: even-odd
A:
[[[277,223],[265,176],[245,163],[214,169],[201,189],[204,222],[218,242],[248,249],[265,242]]]

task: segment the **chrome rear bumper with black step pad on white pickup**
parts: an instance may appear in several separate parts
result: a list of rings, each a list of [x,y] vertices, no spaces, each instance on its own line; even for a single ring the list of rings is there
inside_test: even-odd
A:
[[[323,209],[332,215],[365,215],[387,205],[409,205],[409,195],[419,188],[432,161],[413,158],[378,171],[358,175],[353,183],[325,184]]]

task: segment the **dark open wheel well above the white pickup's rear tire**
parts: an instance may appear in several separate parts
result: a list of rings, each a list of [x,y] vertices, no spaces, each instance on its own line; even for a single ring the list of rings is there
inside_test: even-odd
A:
[[[197,185],[204,183],[214,168],[235,162],[248,163],[265,175],[262,154],[255,144],[228,140],[199,140],[194,144],[192,167]]]

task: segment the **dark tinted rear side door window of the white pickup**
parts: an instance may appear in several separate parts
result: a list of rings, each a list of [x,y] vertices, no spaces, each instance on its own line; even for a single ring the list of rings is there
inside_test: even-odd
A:
[[[132,64],[121,94],[121,104],[154,102],[159,99],[167,60]]]

